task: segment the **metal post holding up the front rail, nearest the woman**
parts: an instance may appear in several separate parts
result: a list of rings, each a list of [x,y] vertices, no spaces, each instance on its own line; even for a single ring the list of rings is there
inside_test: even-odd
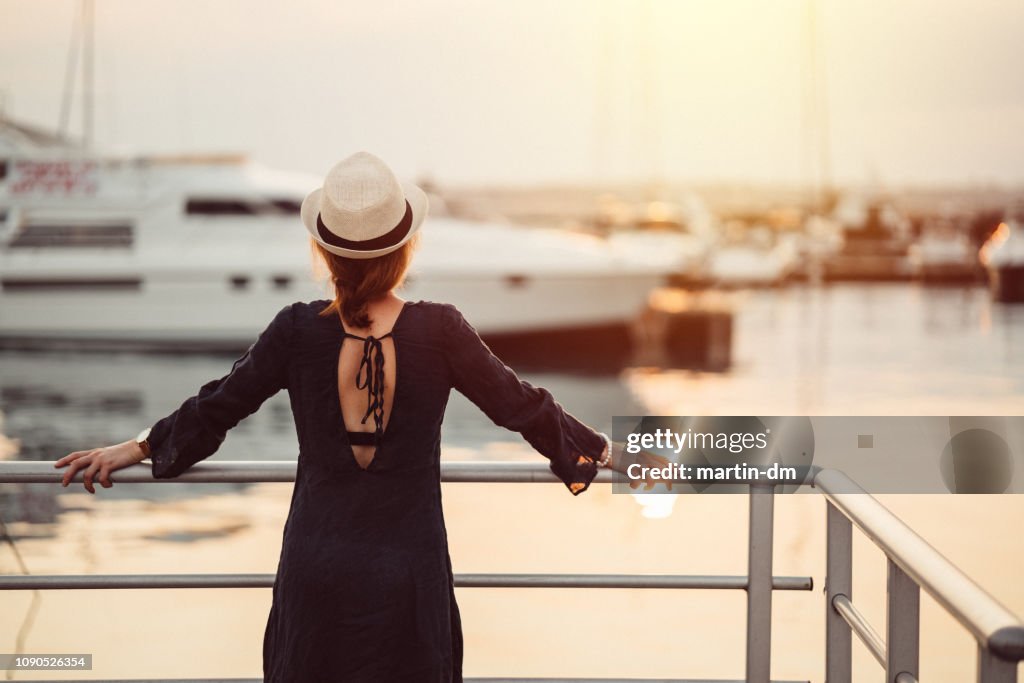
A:
[[[746,683],[771,681],[772,532],[775,487],[751,484],[748,531]]]

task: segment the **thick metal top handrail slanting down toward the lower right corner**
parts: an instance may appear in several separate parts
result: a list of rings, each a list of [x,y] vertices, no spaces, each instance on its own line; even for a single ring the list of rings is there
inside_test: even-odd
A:
[[[824,493],[886,556],[959,622],[979,645],[1004,659],[1024,659],[1024,624],[909,526],[838,470],[821,470]]]

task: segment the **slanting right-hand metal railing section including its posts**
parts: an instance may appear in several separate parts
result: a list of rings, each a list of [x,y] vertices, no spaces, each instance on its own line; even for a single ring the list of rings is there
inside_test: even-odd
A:
[[[1016,683],[1024,659],[1024,624],[896,515],[838,470],[819,470],[814,485],[827,500],[825,681],[850,683],[851,634],[886,672],[887,683],[919,676],[921,589],[978,642],[978,683]],[[886,555],[885,640],[853,603],[853,525]]]

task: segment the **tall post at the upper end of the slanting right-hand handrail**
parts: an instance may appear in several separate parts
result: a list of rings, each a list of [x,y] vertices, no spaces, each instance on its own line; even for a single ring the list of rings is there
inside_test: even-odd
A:
[[[853,598],[853,524],[830,502],[826,506],[825,683],[850,683],[852,634],[833,600]]]

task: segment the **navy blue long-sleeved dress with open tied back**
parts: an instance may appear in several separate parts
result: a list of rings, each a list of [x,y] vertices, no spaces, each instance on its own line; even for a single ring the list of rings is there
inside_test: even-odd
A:
[[[150,434],[153,475],[175,477],[287,389],[299,441],[263,641],[267,683],[462,681],[463,638],[441,510],[441,420],[452,389],[550,460],[572,495],[597,474],[603,437],[521,381],[451,304],[407,302],[392,328],[391,417],[370,465],[352,453],[338,396],[344,330],[283,308],[220,379]]]

